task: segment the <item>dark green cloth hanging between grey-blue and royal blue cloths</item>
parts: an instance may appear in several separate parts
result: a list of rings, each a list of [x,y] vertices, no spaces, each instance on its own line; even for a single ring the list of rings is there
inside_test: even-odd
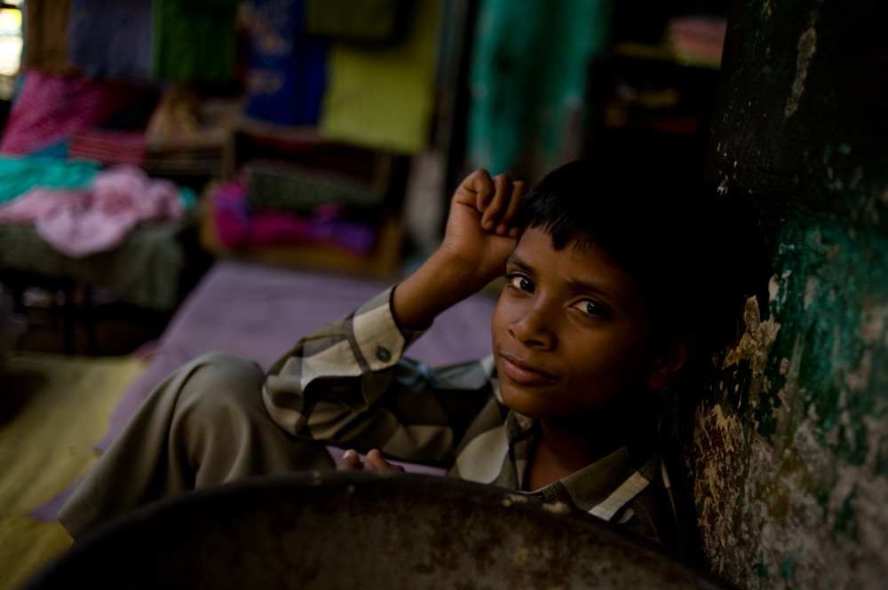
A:
[[[236,0],[155,0],[154,78],[225,81],[234,75]]]

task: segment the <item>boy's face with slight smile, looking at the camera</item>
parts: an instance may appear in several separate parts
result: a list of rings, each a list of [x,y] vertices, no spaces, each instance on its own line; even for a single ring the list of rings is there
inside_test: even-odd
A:
[[[630,276],[598,248],[555,251],[545,232],[528,229],[506,272],[493,351],[512,410],[583,420],[645,386],[651,319]]]

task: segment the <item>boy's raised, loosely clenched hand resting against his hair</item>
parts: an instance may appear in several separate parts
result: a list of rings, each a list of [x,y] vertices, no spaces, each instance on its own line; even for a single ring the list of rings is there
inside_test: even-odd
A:
[[[525,193],[524,182],[505,174],[491,178],[484,169],[465,177],[454,193],[441,250],[472,269],[478,288],[503,273],[518,237],[511,222]]]

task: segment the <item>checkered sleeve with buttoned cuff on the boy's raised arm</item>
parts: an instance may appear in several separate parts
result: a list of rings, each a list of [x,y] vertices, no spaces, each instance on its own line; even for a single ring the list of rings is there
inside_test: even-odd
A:
[[[403,358],[422,333],[397,326],[391,295],[386,290],[298,342],[266,375],[266,409],[296,437],[447,462],[487,400],[489,368],[468,363],[433,371]]]

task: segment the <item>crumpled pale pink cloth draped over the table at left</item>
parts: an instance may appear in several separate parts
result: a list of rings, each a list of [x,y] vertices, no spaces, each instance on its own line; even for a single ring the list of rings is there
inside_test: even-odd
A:
[[[142,222],[182,214],[178,186],[134,166],[99,172],[91,188],[34,189],[0,206],[0,223],[34,224],[52,248],[72,258],[117,248]]]

